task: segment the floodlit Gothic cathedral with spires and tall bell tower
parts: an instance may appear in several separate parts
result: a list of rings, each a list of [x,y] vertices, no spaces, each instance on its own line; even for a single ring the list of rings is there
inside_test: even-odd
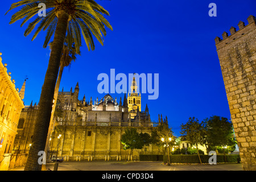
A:
[[[121,143],[126,129],[135,128],[138,133],[148,133],[158,126],[152,122],[148,106],[141,109],[141,94],[137,91],[135,77],[131,82],[131,93],[113,98],[85,96],[79,100],[79,83],[75,89],[59,92],[50,133],[47,139],[47,155],[57,155],[66,161],[74,160],[125,160],[138,159],[139,154],[159,154],[159,148],[150,144],[141,150],[124,150]],[[20,114],[18,134],[14,142],[16,163],[24,163],[33,137],[35,118],[40,104],[25,107]],[[23,159],[23,160],[22,160]],[[15,164],[16,165],[16,164]]]

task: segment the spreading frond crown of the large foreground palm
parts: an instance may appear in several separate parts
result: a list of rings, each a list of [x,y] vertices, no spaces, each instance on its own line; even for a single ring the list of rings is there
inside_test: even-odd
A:
[[[104,17],[104,14],[109,15],[102,6],[98,5],[94,0],[22,0],[13,3],[6,14],[13,9],[20,8],[11,17],[11,23],[16,22],[19,19],[23,19],[20,26],[24,26],[26,22],[31,20],[34,16],[38,14],[40,7],[39,3],[44,3],[47,8],[46,16],[37,16],[32,20],[24,32],[24,36],[31,34],[31,32],[36,28],[32,40],[38,36],[39,32],[42,30],[46,31],[46,39],[44,40],[43,47],[46,48],[52,35],[55,32],[57,24],[56,11],[59,7],[66,7],[73,12],[70,14],[71,19],[67,24],[67,40],[68,47],[71,48],[73,43],[75,43],[76,52],[79,52],[79,47],[82,45],[81,36],[84,38],[88,50],[94,50],[93,36],[100,42],[103,46],[103,36],[106,36],[105,26],[113,30],[112,26],[108,20]],[[74,6],[70,6],[73,3]],[[73,10],[72,10],[72,9]]]

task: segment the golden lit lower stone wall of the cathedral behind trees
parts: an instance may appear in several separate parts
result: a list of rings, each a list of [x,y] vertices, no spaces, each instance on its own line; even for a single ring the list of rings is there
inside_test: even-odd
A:
[[[50,151],[56,155],[57,142],[59,142],[58,156],[64,159],[73,160],[125,160],[130,154],[130,150],[123,150],[121,137],[127,127],[108,126],[58,126],[61,133],[60,140],[57,140],[59,133],[52,136]],[[131,127],[129,127],[131,128]],[[153,127],[134,127],[138,133],[148,133],[151,135]],[[141,150],[134,150],[134,159],[139,157]],[[147,147],[150,154],[160,154],[158,147],[151,145]],[[91,160],[91,159],[90,159]]]

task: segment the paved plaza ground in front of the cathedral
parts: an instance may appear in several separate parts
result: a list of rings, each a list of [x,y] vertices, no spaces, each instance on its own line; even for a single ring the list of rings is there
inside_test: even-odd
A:
[[[54,164],[47,164],[53,171]],[[23,171],[24,167],[9,171]],[[242,171],[242,164],[171,164],[162,162],[63,162],[59,163],[58,171]]]

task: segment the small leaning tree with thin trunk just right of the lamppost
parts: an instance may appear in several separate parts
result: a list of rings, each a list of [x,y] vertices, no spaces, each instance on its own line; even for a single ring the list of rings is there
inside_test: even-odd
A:
[[[199,156],[200,163],[202,163],[198,145],[203,145],[205,141],[206,130],[204,128],[203,121],[199,122],[197,118],[190,117],[188,122],[185,125],[182,123],[180,127],[180,134],[185,135],[186,140],[196,146],[197,155]]]

